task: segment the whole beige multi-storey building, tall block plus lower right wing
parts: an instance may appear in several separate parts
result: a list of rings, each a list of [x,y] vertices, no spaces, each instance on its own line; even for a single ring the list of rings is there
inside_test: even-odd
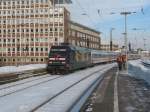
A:
[[[0,1],[0,65],[45,63],[51,45],[64,42],[99,49],[99,34],[50,0]]]

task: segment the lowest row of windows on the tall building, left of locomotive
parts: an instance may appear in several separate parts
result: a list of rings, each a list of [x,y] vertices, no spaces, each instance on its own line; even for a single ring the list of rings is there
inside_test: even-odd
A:
[[[44,62],[44,58],[30,58],[30,59],[8,59],[8,58],[4,58],[4,59],[0,59],[0,62],[15,62],[15,61],[18,61],[18,62],[25,62],[25,61],[31,61],[31,62]]]

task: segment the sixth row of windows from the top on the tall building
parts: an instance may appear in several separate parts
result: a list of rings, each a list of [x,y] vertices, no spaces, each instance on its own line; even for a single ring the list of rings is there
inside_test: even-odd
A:
[[[63,32],[63,28],[62,27],[61,28],[56,28],[56,27],[50,28],[49,31],[50,32],[53,32],[53,31]],[[0,33],[15,33],[15,32],[48,33],[48,29],[7,29],[7,30],[6,29],[4,29],[4,30],[0,29]]]

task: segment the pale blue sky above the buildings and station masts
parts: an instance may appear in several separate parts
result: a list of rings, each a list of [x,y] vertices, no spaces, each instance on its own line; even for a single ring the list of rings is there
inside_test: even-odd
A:
[[[150,0],[72,0],[66,7],[73,21],[100,31],[102,43],[109,43],[110,29],[115,28],[113,43],[120,46],[125,32],[125,16],[120,13],[131,12],[127,16],[128,42],[132,48],[150,50]]]

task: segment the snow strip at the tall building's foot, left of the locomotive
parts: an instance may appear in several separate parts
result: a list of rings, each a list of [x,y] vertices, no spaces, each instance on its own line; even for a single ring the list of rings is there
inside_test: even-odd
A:
[[[0,67],[0,74],[15,73],[26,70],[46,68],[46,64],[29,64],[21,66],[4,66]]]

